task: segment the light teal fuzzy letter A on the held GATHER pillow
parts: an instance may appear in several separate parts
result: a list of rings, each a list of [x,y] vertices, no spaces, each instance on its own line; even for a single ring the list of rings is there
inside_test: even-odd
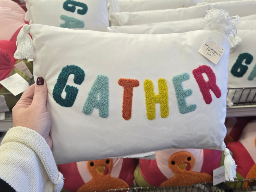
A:
[[[99,96],[99,98],[98,98]],[[108,117],[109,111],[109,82],[105,75],[98,75],[88,93],[82,112],[85,115],[92,114],[93,109],[99,109],[99,116]]]

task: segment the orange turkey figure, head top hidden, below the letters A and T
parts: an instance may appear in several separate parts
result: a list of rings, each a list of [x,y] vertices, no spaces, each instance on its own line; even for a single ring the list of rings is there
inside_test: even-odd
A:
[[[77,192],[129,187],[122,179],[114,178],[110,175],[113,168],[112,159],[88,161],[87,168],[92,175],[92,179],[81,186]]]

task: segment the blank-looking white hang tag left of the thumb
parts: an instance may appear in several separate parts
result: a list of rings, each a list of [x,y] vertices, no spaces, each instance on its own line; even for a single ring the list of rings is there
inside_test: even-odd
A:
[[[14,96],[19,95],[29,87],[29,83],[17,73],[3,79],[0,83]]]

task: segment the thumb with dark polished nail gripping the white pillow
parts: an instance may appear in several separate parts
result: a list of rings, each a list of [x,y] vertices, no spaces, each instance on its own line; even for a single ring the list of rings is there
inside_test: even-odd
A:
[[[37,77],[35,83],[35,94],[31,105],[45,106],[47,100],[47,93],[47,85],[43,77]]]

